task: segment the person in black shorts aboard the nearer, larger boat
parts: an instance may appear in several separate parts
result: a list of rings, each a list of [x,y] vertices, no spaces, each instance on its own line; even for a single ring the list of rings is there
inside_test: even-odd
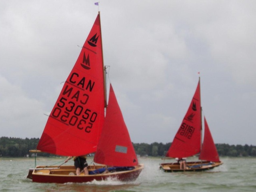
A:
[[[72,156],[68,156],[68,158],[65,160],[65,163],[70,160]],[[84,171],[85,175],[88,175],[88,163],[86,162],[86,156],[74,156],[74,166],[76,167],[76,175],[80,175],[81,170]],[[83,172],[82,171],[82,172]]]

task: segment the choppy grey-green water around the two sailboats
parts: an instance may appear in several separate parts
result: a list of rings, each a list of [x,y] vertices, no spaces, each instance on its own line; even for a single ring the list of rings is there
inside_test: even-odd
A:
[[[144,163],[135,182],[116,180],[75,184],[42,184],[26,179],[33,158],[0,158],[0,191],[26,192],[255,192],[256,158],[221,158],[224,164],[207,172],[165,173],[160,158],[140,158]],[[38,158],[37,165],[60,165],[64,158]],[[90,159],[88,160],[90,162]],[[72,162],[68,162],[72,164]]]

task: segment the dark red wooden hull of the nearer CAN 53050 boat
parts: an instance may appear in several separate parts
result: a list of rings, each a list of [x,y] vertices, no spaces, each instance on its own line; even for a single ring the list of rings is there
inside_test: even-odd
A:
[[[88,170],[98,170],[105,166],[89,166]],[[136,166],[133,170],[103,172],[100,174],[84,175],[81,173],[76,176],[76,169],[74,166],[37,166],[36,169],[30,169],[27,178],[32,179],[33,182],[40,183],[83,183],[91,182],[93,180],[106,180],[114,178],[120,181],[134,181],[138,178],[140,172],[144,168],[143,164]]]

